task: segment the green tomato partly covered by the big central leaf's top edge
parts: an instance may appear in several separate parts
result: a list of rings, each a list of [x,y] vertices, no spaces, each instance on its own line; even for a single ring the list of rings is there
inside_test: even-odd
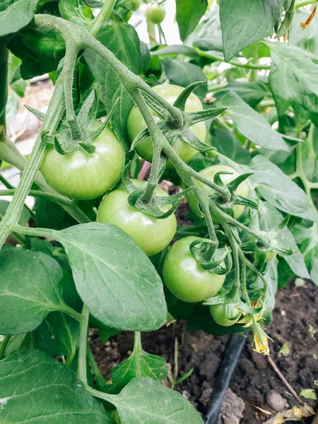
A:
[[[140,187],[145,182],[141,179],[132,180]],[[159,187],[158,196],[169,196]],[[97,220],[99,223],[110,223],[122,228],[139,244],[149,257],[161,252],[171,242],[177,230],[175,214],[165,219],[155,219],[129,206],[128,192],[121,184],[118,189],[107,194],[100,202]],[[171,206],[165,206],[167,211]]]

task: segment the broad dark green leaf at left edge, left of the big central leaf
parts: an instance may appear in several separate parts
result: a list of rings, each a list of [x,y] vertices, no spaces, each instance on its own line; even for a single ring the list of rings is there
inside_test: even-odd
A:
[[[51,311],[65,310],[57,261],[20,248],[0,253],[0,334],[20,334],[41,324]]]

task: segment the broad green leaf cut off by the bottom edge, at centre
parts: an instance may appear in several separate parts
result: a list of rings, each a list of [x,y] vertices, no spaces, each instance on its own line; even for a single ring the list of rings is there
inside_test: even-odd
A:
[[[187,399],[148,377],[132,379],[112,403],[122,424],[203,424]]]

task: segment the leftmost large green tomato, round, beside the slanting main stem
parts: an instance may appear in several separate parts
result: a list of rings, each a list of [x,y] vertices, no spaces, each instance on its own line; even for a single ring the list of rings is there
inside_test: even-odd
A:
[[[93,142],[94,153],[77,150],[60,155],[49,146],[41,172],[47,184],[70,199],[96,199],[118,181],[124,167],[124,149],[110,129]]]

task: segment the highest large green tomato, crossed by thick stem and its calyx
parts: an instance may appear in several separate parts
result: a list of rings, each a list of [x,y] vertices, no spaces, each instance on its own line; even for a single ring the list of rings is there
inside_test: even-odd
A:
[[[168,103],[170,103],[170,105],[173,105],[173,103],[175,102],[175,100],[177,100],[179,94],[182,93],[182,90],[184,90],[184,88],[179,86],[173,86],[172,84],[163,84],[161,86],[153,87],[153,90],[155,91],[155,93],[158,93],[162,98],[164,98]],[[194,93],[192,93],[191,95],[189,95],[189,98],[187,100],[185,111],[198,112],[199,110],[203,110],[201,100]],[[160,118],[158,117],[158,114],[156,114],[154,111],[152,111],[151,113],[155,117],[155,121],[159,122]],[[146,129],[146,123],[144,122],[138,107],[135,106],[131,110],[131,113],[129,114],[128,118],[128,134],[131,143],[134,141],[136,136],[138,136],[138,134],[141,133],[141,131],[143,131],[144,129]],[[206,124],[204,122],[198,122],[197,124],[194,124],[191,129],[198,137],[198,139],[203,142],[205,141]],[[184,143],[179,139],[175,142],[173,148],[175,149],[179,157],[184,160],[184,162],[189,162],[189,160],[192,159],[196,155],[196,153],[198,153],[196,149],[192,148],[187,143]],[[152,162],[153,143],[151,141],[151,138],[148,137],[147,139],[141,141],[141,143],[136,146],[135,151],[139,154],[141,158],[147,160],[147,162]],[[168,161],[168,166],[172,166],[170,160]]]

